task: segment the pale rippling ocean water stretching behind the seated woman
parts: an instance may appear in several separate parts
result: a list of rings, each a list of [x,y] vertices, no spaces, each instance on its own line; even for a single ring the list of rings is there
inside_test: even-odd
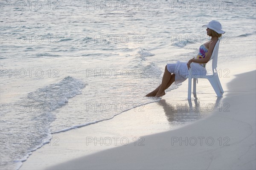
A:
[[[145,94],[166,63],[195,57],[210,20],[226,31],[218,62],[255,61],[254,0],[0,5],[1,169],[18,169],[52,133],[159,101]]]

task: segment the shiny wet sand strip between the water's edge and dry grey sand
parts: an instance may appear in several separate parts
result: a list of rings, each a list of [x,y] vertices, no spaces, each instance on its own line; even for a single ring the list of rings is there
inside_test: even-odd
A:
[[[231,76],[234,77],[233,75]],[[221,79],[221,83],[224,87],[226,86],[226,82],[228,82],[228,79]],[[202,85],[204,84],[204,82],[200,81],[200,84]],[[206,84],[206,86],[208,89],[212,88],[209,84]],[[181,88],[175,89],[175,92],[177,91],[177,94],[180,96],[186,96],[186,90],[187,81],[182,85]],[[228,94],[230,93],[230,91],[226,91],[226,93]],[[139,113],[138,111],[130,110],[127,111],[127,113],[117,115],[113,119],[110,119],[108,121],[99,122],[78,129],[68,130],[63,133],[55,133],[52,135],[52,138],[55,139],[55,141],[52,141],[51,144],[46,144],[42,148],[36,150],[36,152],[33,152],[33,154],[29,156],[29,159],[23,162],[20,170],[47,169],[47,167],[51,167],[56,164],[63,164],[63,162],[68,162],[71,159],[79,159],[79,157],[94,155],[100,152],[105,152],[106,150],[119,148],[119,146],[127,148],[135,143],[136,145],[143,144],[148,141],[148,139],[146,140],[146,138],[144,138],[144,136],[146,135],[157,135],[159,133],[169,132],[169,130],[179,131],[184,128],[186,129],[195,124],[198,124],[198,122],[208,120],[209,117],[212,117],[215,114],[215,112],[213,112],[206,115],[200,115],[201,112],[199,112],[197,114],[199,114],[201,118],[198,120],[186,122],[185,125],[177,125],[177,127],[170,125],[170,121],[172,120],[169,120],[170,117],[168,116],[170,115],[168,115],[168,110],[170,109],[170,106],[172,106],[173,102],[181,102],[183,103],[182,105],[185,105],[185,103],[187,103],[187,100],[185,99],[173,100],[172,95],[172,92],[166,94],[163,99],[161,99],[162,102],[160,102],[160,104],[158,102],[154,102],[145,105],[145,112]],[[209,94],[201,93],[200,96],[198,96],[199,100],[207,101],[205,95],[207,96]],[[211,97],[209,97],[210,99],[208,99],[208,102],[215,103],[215,105],[218,105],[223,100],[223,98],[218,99],[217,97],[215,97],[213,89],[211,89],[211,94],[209,96]],[[172,103],[168,105],[168,102],[170,101]],[[195,101],[192,102],[194,105],[196,104]],[[187,113],[188,112],[181,112],[180,115],[184,116],[184,114]],[[131,118],[133,119],[133,122],[131,122]],[[171,117],[171,119],[173,119],[173,117]],[[144,122],[142,122],[143,120]],[[99,142],[101,138],[102,143],[105,142],[102,145],[100,145]],[[59,145],[53,146],[53,143],[56,142],[57,139],[57,144]],[[129,141],[128,144],[127,142],[125,143],[127,139]],[[93,143],[97,140],[98,142],[96,142],[96,144]],[[215,139],[215,141],[217,141],[217,139]],[[112,143],[109,144],[110,142]],[[41,163],[41,161],[46,163],[43,164]],[[90,169],[91,168],[93,167],[90,167]]]

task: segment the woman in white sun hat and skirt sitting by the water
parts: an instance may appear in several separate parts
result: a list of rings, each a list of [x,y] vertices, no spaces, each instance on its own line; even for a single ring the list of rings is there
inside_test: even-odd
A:
[[[207,35],[211,37],[211,40],[200,46],[197,57],[190,59],[187,63],[178,61],[176,64],[167,64],[162,83],[146,96],[160,97],[165,95],[165,90],[169,88],[173,82],[177,84],[186,80],[188,69],[193,69],[196,74],[206,75],[205,65],[212,56],[212,51],[218,38],[221,37],[225,31],[221,30],[221,23],[216,20],[210,21],[203,27],[207,27]]]

